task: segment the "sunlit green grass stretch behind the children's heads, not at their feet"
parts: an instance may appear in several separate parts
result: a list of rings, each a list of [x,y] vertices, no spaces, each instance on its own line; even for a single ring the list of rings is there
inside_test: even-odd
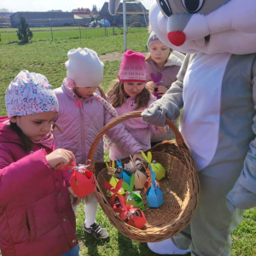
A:
[[[148,34],[129,33],[127,48],[145,51]],[[43,73],[54,88],[61,86],[66,77],[65,61],[69,49],[87,47],[96,50],[98,55],[114,51],[123,52],[123,35],[102,38],[60,39],[47,41],[32,41],[29,44],[0,44],[0,115],[5,113],[4,92],[10,81],[22,69],[30,72]],[[117,78],[119,63],[105,62],[102,86],[108,87],[112,79]]]

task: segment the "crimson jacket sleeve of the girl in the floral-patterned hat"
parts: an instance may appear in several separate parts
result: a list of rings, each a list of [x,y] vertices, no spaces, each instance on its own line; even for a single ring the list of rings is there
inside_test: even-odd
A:
[[[8,202],[24,193],[30,184],[52,175],[47,164],[45,151],[40,149],[14,162],[8,150],[0,148],[0,202]]]

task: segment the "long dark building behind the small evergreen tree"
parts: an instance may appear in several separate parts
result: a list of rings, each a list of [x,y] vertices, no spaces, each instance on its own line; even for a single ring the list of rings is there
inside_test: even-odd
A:
[[[17,12],[10,16],[11,26],[18,27],[20,16],[25,17],[29,26],[72,26],[73,13],[66,12]]]

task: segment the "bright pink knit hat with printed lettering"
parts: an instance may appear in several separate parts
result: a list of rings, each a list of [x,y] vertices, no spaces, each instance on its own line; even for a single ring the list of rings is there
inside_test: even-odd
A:
[[[127,49],[119,69],[119,81],[146,83],[146,75],[145,56],[140,52]]]

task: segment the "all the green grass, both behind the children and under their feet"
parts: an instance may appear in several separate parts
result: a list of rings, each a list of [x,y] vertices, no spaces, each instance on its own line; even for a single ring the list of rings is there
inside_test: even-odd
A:
[[[63,31],[66,33],[67,31]],[[0,31],[3,38],[3,32]],[[61,33],[61,32],[60,32]],[[7,34],[7,33],[6,33]],[[9,33],[10,34],[10,33]],[[12,33],[15,35],[15,33]],[[49,35],[50,38],[50,35]],[[145,51],[148,34],[146,32],[128,33],[127,48],[136,51]],[[15,39],[16,40],[16,39]],[[98,55],[114,51],[123,51],[122,35],[108,37],[91,37],[82,39],[55,39],[40,41],[33,38],[30,44],[0,43],[0,114],[6,114],[4,106],[4,92],[9,82],[22,69],[30,72],[43,73],[54,88],[61,85],[66,76],[64,66],[67,61],[67,51],[78,47],[88,47],[96,50]],[[117,78],[120,61],[106,61],[102,87],[107,90],[111,80]],[[221,216],[219,217],[221,218]],[[151,256],[156,255],[149,251],[145,243],[131,241],[119,234],[113,228],[108,218],[99,207],[97,221],[103,224],[110,234],[108,242],[96,241],[84,235],[81,226],[84,222],[83,206],[79,205],[77,213],[77,235],[81,247],[81,256]],[[256,256],[256,210],[248,210],[236,231],[232,234],[232,256]],[[36,255],[35,255],[36,256]],[[218,255],[214,255],[218,256]]]

